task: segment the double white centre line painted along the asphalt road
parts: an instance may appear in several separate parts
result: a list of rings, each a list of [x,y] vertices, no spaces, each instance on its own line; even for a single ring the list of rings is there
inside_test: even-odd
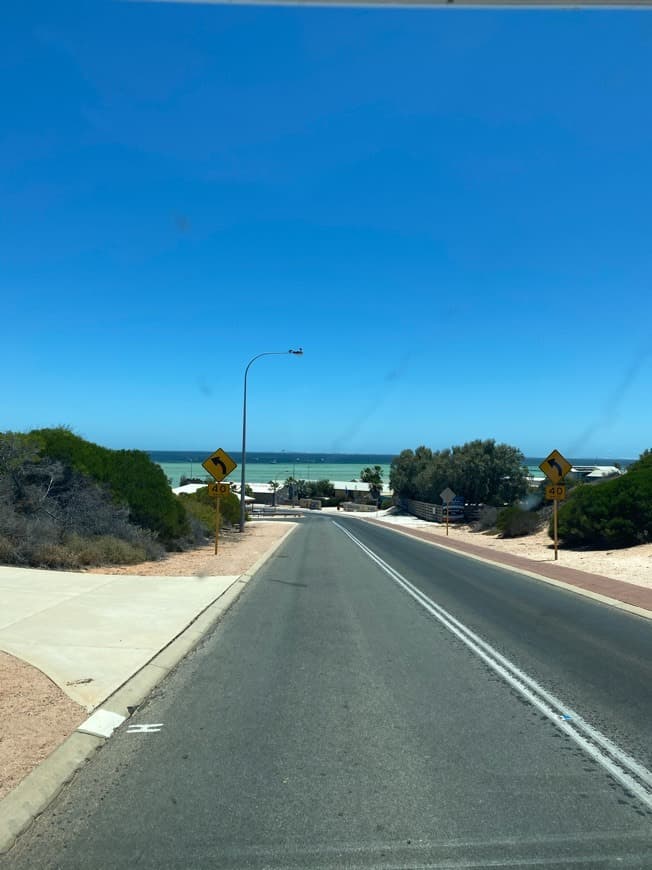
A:
[[[652,809],[652,772],[616,746],[593,726],[585,722],[575,711],[569,709],[553,694],[540,686],[536,680],[521,671],[516,665],[501,655],[490,644],[467,628],[447,610],[436,604],[425,593],[417,589],[409,580],[399,574],[391,565],[381,559],[366,544],[356,538],[348,529],[333,520],[333,524],[353,541],[370,559],[372,559],[395,583],[401,586],[425,610],[442,623],[452,634],[459,638],[469,649],[481,658],[493,671],[499,674],[519,694],[540,710],[553,724],[567,734],[580,746],[587,755],[597,761],[604,769],[618,780],[628,791]],[[556,708],[556,709],[555,709]],[[572,725],[562,715],[572,719]],[[592,741],[592,742],[590,742]],[[597,746],[595,745],[597,744]],[[602,750],[602,751],[601,751]],[[608,753],[608,754],[607,754]],[[609,757],[611,756],[611,757]],[[629,771],[629,772],[627,772]],[[630,775],[631,774],[631,775]],[[636,776],[644,785],[641,785]]]

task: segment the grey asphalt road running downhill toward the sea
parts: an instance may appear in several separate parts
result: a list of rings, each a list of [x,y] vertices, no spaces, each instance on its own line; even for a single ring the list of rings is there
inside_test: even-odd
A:
[[[3,867],[652,867],[627,767],[652,623],[337,522],[289,538],[129,723],[160,730],[119,729]]]

